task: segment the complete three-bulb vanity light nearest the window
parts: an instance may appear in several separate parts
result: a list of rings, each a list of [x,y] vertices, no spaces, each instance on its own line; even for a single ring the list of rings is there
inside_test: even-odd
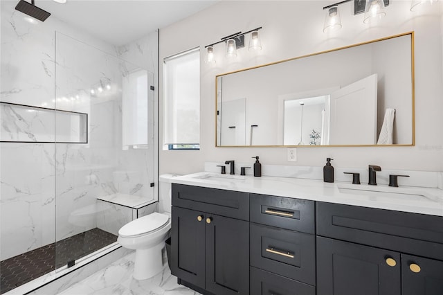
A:
[[[215,56],[214,56],[214,45],[224,42],[226,44],[225,56],[226,57],[236,57],[237,49],[244,47],[244,36],[248,33],[251,33],[251,39],[249,40],[249,51],[260,50],[262,49],[262,42],[260,41],[260,37],[258,35],[258,30],[260,28],[255,28],[253,30],[248,30],[245,33],[237,32],[232,35],[228,35],[226,37],[221,38],[219,42],[215,42],[213,44],[206,45],[206,64],[215,64]]]

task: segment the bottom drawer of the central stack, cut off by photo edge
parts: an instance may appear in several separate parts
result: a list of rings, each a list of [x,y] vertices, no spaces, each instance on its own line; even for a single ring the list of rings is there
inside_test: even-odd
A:
[[[316,288],[262,269],[251,267],[250,294],[254,295],[315,295]]]

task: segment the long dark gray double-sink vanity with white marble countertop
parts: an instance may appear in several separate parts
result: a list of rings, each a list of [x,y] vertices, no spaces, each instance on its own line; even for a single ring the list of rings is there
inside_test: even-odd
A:
[[[197,292],[443,294],[442,190],[203,175],[172,185],[171,270]]]

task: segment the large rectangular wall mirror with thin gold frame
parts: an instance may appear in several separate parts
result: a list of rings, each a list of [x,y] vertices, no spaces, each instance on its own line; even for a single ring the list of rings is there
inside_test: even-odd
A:
[[[414,145],[413,32],[216,77],[216,145]]]

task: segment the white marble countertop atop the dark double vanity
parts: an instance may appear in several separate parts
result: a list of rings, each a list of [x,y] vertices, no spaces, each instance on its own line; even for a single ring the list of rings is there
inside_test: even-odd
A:
[[[329,184],[314,179],[220,175],[214,172],[174,177],[172,183],[443,216],[443,190],[439,188],[393,188],[345,182]]]

